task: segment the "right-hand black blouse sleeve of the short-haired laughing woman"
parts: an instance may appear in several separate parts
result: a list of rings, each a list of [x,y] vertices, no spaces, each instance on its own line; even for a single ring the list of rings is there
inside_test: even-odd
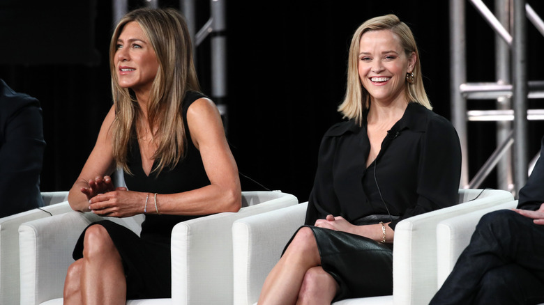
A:
[[[458,203],[460,178],[459,136],[448,120],[432,117],[425,130],[419,156],[417,203],[389,226],[394,229],[402,219]]]

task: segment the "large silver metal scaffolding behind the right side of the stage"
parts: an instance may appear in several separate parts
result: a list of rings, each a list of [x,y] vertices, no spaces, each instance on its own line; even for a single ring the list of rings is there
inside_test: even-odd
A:
[[[453,125],[460,137],[463,155],[461,187],[479,187],[497,165],[499,188],[515,191],[517,194],[527,180],[527,169],[531,167],[527,159],[527,120],[544,119],[544,109],[527,109],[528,98],[544,97],[544,81],[527,79],[525,16],[527,15],[543,36],[544,22],[524,0],[495,0],[495,14],[498,18],[481,0],[469,1],[497,33],[495,41],[497,82],[467,83],[465,1],[450,0],[451,113]],[[467,111],[467,100],[492,99],[497,100],[497,110]],[[469,120],[497,121],[497,149],[470,182],[467,148]],[[511,146],[513,155],[508,150]],[[535,159],[532,162],[535,162]]]

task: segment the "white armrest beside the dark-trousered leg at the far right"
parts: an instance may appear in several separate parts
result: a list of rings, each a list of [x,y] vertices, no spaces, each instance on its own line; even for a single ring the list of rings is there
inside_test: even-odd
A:
[[[481,217],[489,212],[512,209],[517,201],[509,201],[490,208],[476,210],[441,221],[437,225],[437,288],[440,288],[453,270],[461,252],[470,242]]]

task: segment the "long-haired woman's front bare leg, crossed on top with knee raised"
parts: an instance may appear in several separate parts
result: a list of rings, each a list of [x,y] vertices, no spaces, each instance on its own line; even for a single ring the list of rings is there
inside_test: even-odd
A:
[[[81,260],[82,304],[126,304],[121,256],[103,226],[87,228]]]

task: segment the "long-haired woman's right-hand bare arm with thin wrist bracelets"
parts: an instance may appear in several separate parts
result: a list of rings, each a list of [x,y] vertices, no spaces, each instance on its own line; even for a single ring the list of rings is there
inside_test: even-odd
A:
[[[204,169],[211,184],[183,193],[158,194],[159,212],[161,214],[204,215],[238,211],[241,208],[238,169],[225,138],[217,107],[211,100],[200,98],[189,107],[186,123],[192,141],[200,151]],[[111,139],[109,143],[109,150],[111,150]],[[104,163],[113,164],[113,157],[109,159],[112,162]],[[105,169],[105,172],[111,172],[114,168],[110,165],[103,166],[102,169]],[[82,175],[83,173],[84,171]],[[89,173],[88,177],[93,177],[93,173]],[[93,196],[87,203],[89,210],[95,214],[130,217],[144,212],[146,198],[151,202],[151,206],[154,205],[154,194],[126,189],[112,190],[112,186],[107,185],[107,182],[104,182],[104,185],[110,188],[109,191]],[[149,213],[156,213],[155,209],[148,210]]]

